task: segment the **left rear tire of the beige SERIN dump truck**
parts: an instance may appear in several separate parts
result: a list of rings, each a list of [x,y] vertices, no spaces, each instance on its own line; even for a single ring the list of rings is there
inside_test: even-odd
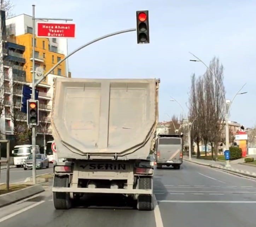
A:
[[[55,187],[68,187],[68,176],[54,176],[53,186]],[[69,193],[66,192],[53,192],[53,204],[55,209],[69,209],[71,208],[71,199]]]

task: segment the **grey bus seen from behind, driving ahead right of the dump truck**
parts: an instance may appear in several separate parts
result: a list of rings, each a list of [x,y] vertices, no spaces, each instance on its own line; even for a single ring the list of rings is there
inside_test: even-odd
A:
[[[180,169],[183,162],[183,134],[158,134],[155,142],[157,168],[163,165]]]

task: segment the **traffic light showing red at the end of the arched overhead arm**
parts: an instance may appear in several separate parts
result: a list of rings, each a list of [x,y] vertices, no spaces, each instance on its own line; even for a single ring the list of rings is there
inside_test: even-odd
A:
[[[149,43],[149,11],[136,11],[137,43]]]

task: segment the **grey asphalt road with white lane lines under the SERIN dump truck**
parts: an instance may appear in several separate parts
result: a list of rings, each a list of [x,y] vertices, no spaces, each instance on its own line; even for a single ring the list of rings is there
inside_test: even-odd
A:
[[[180,170],[155,171],[154,211],[121,207],[132,204],[117,196],[55,210],[50,190],[1,208],[1,227],[255,227],[255,180],[188,162]]]

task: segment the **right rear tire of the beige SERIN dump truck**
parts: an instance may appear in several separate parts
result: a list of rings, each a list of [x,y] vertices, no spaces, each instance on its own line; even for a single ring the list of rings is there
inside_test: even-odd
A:
[[[140,178],[138,181],[139,189],[151,189],[151,178]],[[153,210],[153,197],[152,195],[139,195],[137,201],[138,210]]]

